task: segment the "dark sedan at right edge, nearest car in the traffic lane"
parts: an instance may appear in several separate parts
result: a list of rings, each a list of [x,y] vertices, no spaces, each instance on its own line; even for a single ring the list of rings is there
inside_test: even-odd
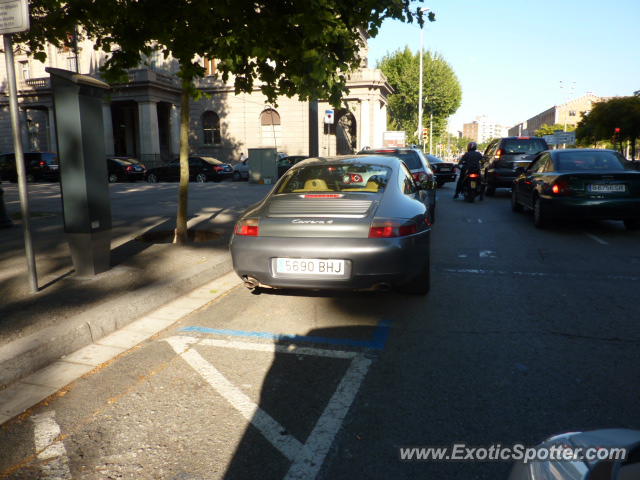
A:
[[[533,210],[537,227],[554,218],[623,220],[640,227],[640,172],[614,150],[567,149],[538,154],[518,168],[514,211]]]

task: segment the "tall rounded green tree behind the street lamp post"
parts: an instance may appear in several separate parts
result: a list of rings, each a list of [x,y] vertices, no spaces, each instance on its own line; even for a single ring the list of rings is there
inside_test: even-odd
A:
[[[389,97],[389,124],[405,130],[411,143],[418,142],[418,103],[420,54],[409,47],[386,55],[379,63],[394,93]],[[434,138],[440,137],[447,126],[447,118],[460,107],[462,88],[451,66],[438,54],[426,52],[423,72],[422,124],[429,125],[433,114]]]

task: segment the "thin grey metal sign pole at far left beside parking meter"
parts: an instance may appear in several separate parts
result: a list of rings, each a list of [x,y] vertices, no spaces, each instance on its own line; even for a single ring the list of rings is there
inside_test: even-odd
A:
[[[24,251],[27,257],[29,287],[31,293],[38,291],[38,277],[36,273],[36,259],[31,241],[31,224],[29,221],[29,195],[24,168],[24,153],[22,137],[20,135],[20,119],[18,114],[18,89],[16,87],[16,70],[13,63],[13,42],[11,35],[3,35],[4,55],[7,64],[7,82],[9,84],[9,110],[11,112],[11,130],[13,133],[13,148],[16,157],[16,171],[18,172],[18,192],[20,194],[20,211],[22,213],[22,230],[24,232]]]

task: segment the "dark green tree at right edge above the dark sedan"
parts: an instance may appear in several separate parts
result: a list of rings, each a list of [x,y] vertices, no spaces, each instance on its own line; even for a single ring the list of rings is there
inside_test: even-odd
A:
[[[631,158],[635,159],[640,137],[640,97],[615,97],[596,103],[578,123],[576,137],[594,144],[611,141],[614,146],[619,145],[620,151],[623,142],[629,142]]]

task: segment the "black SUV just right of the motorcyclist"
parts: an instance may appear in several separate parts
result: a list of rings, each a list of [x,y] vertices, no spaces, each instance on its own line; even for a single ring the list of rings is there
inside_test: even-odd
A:
[[[490,142],[482,161],[485,193],[491,196],[496,188],[511,188],[517,177],[516,168],[531,163],[538,153],[548,148],[547,142],[540,137],[504,137]]]

